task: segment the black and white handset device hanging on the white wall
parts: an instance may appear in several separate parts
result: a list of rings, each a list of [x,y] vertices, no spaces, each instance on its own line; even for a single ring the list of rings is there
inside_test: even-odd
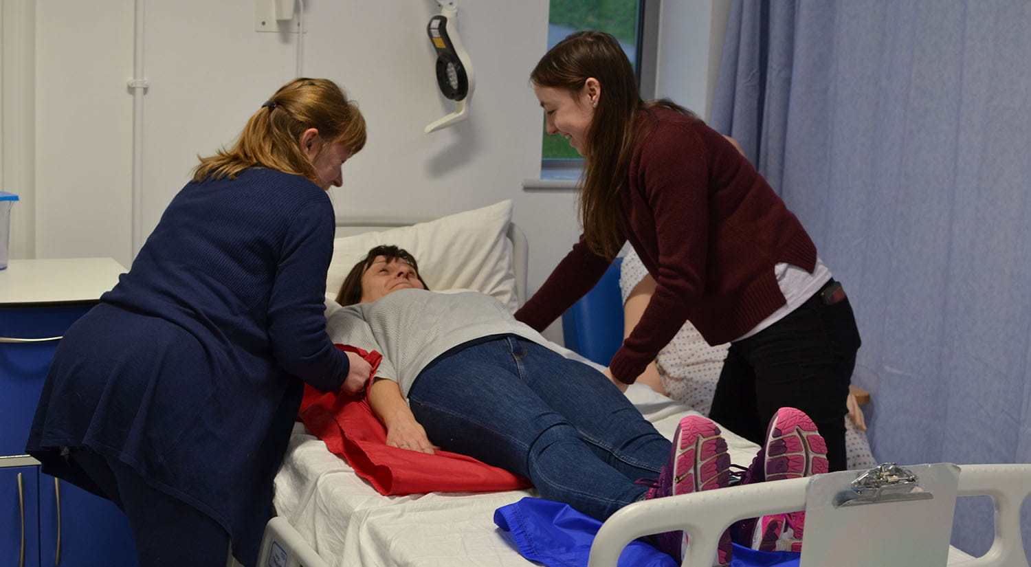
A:
[[[440,92],[455,101],[455,111],[426,127],[429,134],[469,115],[469,98],[472,96],[472,63],[458,37],[458,7],[455,0],[437,0],[440,13],[430,19],[426,33],[437,54],[436,73]]]

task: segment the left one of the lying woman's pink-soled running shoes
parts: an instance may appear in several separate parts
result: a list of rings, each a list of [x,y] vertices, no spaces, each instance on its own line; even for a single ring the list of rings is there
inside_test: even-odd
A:
[[[648,490],[646,499],[690,494],[698,491],[726,488],[730,481],[730,456],[727,441],[720,435],[720,428],[700,415],[680,420],[669,461],[662,467],[657,486]],[[684,532],[665,532],[658,535],[659,549],[677,561],[684,559],[687,535]],[[717,565],[728,565],[731,559],[730,533],[720,538]]]

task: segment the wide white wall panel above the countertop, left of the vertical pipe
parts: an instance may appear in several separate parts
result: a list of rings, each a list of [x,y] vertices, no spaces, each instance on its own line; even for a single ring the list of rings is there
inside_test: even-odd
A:
[[[131,260],[132,8],[36,2],[37,258]]]

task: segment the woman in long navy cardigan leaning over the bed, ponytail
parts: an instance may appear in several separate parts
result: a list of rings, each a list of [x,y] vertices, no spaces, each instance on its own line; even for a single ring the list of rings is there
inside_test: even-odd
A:
[[[326,194],[365,144],[330,80],[298,78],[202,158],[123,274],[65,334],[27,451],[114,501],[141,565],[254,565],[303,382],[363,388],[326,334]]]

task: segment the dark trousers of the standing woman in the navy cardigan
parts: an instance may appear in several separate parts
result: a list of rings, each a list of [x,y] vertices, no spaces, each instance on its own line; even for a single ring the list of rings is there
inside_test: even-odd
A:
[[[90,449],[74,449],[69,459],[129,518],[140,567],[226,566],[229,534],[218,522],[120,461]]]

